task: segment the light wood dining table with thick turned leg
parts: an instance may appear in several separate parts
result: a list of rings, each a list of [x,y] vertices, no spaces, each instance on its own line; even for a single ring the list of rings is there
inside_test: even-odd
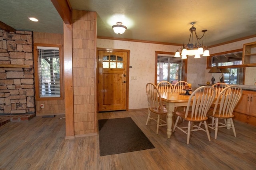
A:
[[[161,92],[162,104],[167,109],[167,138],[172,135],[172,117],[175,107],[187,106],[190,95],[181,92]]]

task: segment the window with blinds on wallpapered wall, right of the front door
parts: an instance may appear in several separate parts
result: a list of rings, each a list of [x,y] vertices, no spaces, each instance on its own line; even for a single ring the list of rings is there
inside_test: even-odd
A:
[[[160,81],[186,81],[186,60],[170,54],[157,54],[156,84]]]

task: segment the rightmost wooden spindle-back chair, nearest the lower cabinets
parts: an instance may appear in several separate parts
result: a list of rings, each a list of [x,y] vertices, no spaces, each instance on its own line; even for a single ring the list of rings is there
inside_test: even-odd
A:
[[[231,85],[222,92],[217,97],[214,109],[210,108],[208,115],[215,118],[215,123],[208,124],[208,127],[215,130],[214,139],[217,139],[218,128],[228,127],[232,128],[234,136],[236,137],[236,130],[234,127],[233,110],[236,104],[242,97],[242,88],[236,85]],[[220,122],[223,119],[224,122]]]

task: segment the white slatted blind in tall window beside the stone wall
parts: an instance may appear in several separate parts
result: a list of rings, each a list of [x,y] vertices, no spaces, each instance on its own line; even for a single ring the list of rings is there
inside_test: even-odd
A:
[[[60,97],[60,56],[58,47],[38,48],[39,95]]]

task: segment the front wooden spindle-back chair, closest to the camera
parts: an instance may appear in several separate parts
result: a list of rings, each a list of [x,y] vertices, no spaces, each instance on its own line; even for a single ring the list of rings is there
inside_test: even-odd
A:
[[[173,132],[176,127],[187,134],[187,144],[190,141],[190,133],[193,131],[205,131],[210,140],[210,134],[208,131],[208,126],[206,120],[208,117],[206,116],[212,102],[215,99],[215,89],[211,86],[201,86],[197,88],[189,97],[188,105],[186,106],[186,111],[177,111],[175,114],[178,116],[173,128]],[[180,125],[183,125],[188,121],[188,126],[181,127],[178,126],[178,121],[180,119],[184,119],[185,122],[182,122]],[[194,122],[203,122],[205,129],[200,127],[199,125],[194,124]],[[201,125],[201,123],[200,123]]]

